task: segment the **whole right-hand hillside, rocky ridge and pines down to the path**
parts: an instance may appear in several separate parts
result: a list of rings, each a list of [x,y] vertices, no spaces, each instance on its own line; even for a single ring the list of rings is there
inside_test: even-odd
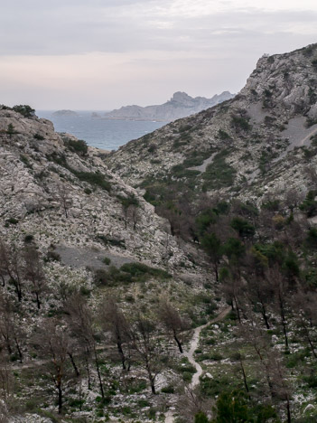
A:
[[[237,396],[241,421],[316,418],[316,63],[317,44],[265,55],[234,99],[106,158],[175,236],[200,244],[235,310],[200,334],[200,395],[219,398],[201,421],[227,421]]]

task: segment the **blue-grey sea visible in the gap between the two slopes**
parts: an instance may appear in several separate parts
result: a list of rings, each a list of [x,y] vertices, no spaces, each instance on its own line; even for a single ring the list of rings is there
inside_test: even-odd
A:
[[[166,122],[92,118],[93,112],[94,110],[80,110],[77,111],[78,116],[54,116],[53,110],[36,110],[36,115],[51,120],[55,131],[68,132],[85,140],[89,146],[105,150],[117,150],[131,139],[145,136],[166,124]],[[105,112],[98,110],[96,113],[102,116]]]

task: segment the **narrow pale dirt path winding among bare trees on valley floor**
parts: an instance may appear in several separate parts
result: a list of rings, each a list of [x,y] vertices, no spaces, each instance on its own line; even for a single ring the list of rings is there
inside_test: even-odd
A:
[[[200,376],[202,374],[202,369],[200,364],[196,362],[194,359],[195,350],[197,350],[198,344],[200,342],[200,332],[202,331],[202,329],[209,326],[210,324],[215,324],[219,322],[220,320],[224,319],[226,315],[228,315],[230,310],[231,310],[231,307],[225,308],[224,310],[221,311],[221,313],[219,313],[219,315],[217,315],[214,319],[210,320],[210,322],[208,322],[207,324],[202,324],[201,326],[196,327],[196,329],[194,330],[194,333],[191,338],[190,349],[186,351],[185,353],[183,353],[183,355],[188,358],[188,361],[191,362],[191,364],[196,369],[196,373],[192,376],[192,380],[190,384],[191,389],[195,388],[199,384]],[[174,419],[172,417],[172,411],[167,411],[165,413],[165,423],[172,423],[173,421]]]

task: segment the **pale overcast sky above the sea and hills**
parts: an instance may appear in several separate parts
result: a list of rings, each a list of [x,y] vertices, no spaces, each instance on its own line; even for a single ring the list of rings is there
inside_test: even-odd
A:
[[[237,93],[317,42],[316,0],[0,0],[0,104],[109,110]]]

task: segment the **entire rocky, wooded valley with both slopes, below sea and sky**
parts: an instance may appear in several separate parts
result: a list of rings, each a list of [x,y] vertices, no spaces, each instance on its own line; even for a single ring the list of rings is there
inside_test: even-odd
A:
[[[0,107],[2,421],[316,421],[316,63],[111,154]]]

